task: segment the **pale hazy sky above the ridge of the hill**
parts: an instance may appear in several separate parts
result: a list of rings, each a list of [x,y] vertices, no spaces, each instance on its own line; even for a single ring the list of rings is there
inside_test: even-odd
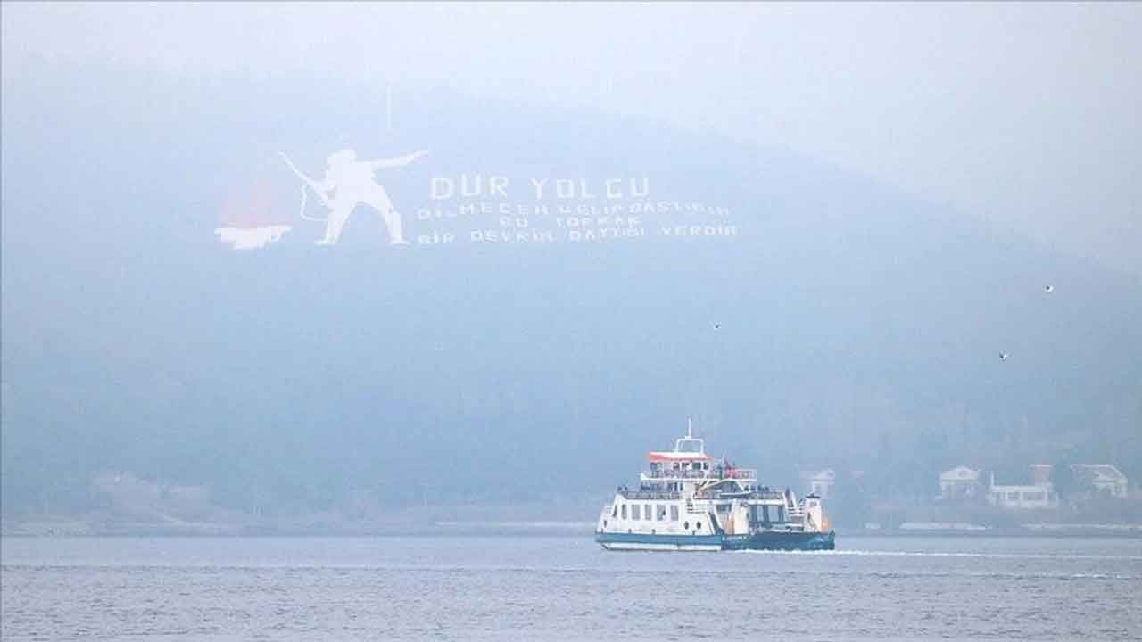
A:
[[[823,158],[1142,275],[1139,3],[5,3],[2,16],[6,82],[33,56],[301,78],[315,95],[328,80],[391,83],[397,106],[447,85],[643,114]]]

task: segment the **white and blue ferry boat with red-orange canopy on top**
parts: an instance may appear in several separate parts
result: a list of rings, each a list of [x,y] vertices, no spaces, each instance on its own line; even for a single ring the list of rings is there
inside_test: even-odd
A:
[[[595,541],[609,551],[833,551],[835,533],[821,505],[788,488],[757,485],[757,471],[706,454],[686,436],[674,450],[651,451],[637,490],[620,485],[603,507]]]

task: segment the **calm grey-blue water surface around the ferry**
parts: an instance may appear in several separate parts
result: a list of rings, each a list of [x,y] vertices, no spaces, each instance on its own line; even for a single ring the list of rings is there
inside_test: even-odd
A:
[[[3,538],[18,640],[1139,640],[1142,540]]]

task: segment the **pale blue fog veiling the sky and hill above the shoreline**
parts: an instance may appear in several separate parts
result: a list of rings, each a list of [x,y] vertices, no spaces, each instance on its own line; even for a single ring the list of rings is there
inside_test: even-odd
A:
[[[1142,475],[1137,6],[2,15],[6,514]]]

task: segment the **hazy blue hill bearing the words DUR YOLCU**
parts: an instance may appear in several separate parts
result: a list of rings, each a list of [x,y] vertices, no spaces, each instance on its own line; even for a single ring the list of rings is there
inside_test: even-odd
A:
[[[1136,278],[812,159],[445,89],[389,115],[46,67],[2,99],[6,512],[81,507],[100,471],[281,511],[582,495],[687,417],[778,484],[1142,475]],[[315,243],[278,152],[321,179],[341,149],[428,152],[377,172],[410,244],[368,204]]]

